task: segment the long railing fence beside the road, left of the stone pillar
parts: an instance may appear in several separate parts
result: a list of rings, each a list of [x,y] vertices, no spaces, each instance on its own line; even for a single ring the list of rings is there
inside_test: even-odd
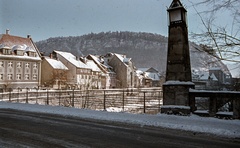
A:
[[[95,90],[26,90],[0,93],[0,101],[156,114],[162,105],[161,88]]]

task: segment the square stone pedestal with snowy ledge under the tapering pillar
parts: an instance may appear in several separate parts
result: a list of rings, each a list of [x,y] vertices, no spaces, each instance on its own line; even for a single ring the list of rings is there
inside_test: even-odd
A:
[[[163,84],[163,106],[189,106],[190,109],[189,89],[194,87],[192,82],[167,81]],[[161,112],[164,113],[167,110],[166,107],[163,108]]]

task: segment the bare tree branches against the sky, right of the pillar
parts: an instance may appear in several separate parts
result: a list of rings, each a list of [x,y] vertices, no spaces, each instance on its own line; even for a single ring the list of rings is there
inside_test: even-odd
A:
[[[215,52],[208,51],[211,51],[210,54],[219,60],[240,63],[240,1],[201,0],[192,4],[205,28],[202,33],[194,33],[193,39],[212,48]],[[197,7],[202,5],[208,10],[198,11]],[[229,13],[232,19],[231,25],[224,26],[216,23],[217,19],[224,19],[217,17],[221,13]]]

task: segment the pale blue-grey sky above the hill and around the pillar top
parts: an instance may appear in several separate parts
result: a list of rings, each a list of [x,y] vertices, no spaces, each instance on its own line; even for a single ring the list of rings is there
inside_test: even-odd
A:
[[[190,1],[189,32],[202,24]],[[0,31],[34,41],[107,31],[150,32],[167,36],[167,7],[172,0],[0,0]]]

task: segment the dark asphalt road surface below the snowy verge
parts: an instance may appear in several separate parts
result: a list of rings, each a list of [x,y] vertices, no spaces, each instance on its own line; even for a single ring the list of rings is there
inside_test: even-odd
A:
[[[240,139],[5,109],[0,147],[239,148]]]

